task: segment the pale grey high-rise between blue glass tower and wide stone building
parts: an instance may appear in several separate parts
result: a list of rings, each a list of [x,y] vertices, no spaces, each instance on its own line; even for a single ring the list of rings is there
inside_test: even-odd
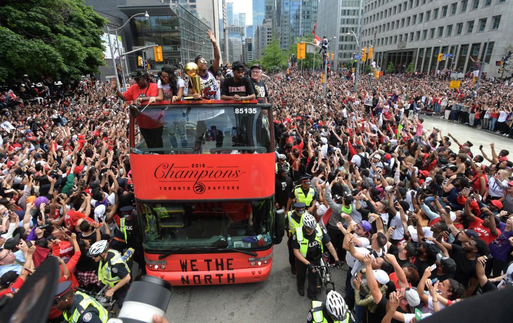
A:
[[[330,41],[328,51],[334,53],[332,62],[334,67],[342,67],[344,63],[351,60],[353,53],[358,51],[354,36],[347,35],[347,32],[352,30],[359,34],[362,1],[319,1],[320,18],[317,21],[317,35],[320,39],[326,36]]]

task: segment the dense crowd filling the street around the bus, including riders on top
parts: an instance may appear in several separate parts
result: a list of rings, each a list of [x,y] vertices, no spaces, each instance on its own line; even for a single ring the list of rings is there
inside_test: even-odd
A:
[[[363,77],[354,91],[351,75],[333,71],[323,96],[317,73],[265,75],[258,64],[220,66],[209,35],[214,63],[195,59],[201,93],[169,65],[157,82],[136,70],[125,92],[90,78],[34,84],[28,77],[6,92],[0,304],[49,256],[59,259],[61,271],[50,321],[105,321],[87,294],[73,293],[77,287],[107,285],[106,296],[123,304],[132,260],[144,271],[132,225],[123,101],[187,95],[273,105],[275,206],[286,211],[289,262],[301,296],[308,280],[309,321],[410,322],[512,286],[509,151],[490,143],[473,155],[472,143],[426,129],[423,120],[423,113],[440,113],[511,136],[507,82],[483,80],[476,91],[471,80],[449,89],[434,77],[389,74],[372,82]],[[336,282],[344,291],[324,298],[314,268],[328,251],[348,273]],[[79,306],[87,311],[76,312]]]

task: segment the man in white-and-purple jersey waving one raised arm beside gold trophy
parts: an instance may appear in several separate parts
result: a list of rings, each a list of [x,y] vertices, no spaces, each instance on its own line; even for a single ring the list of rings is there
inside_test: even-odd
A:
[[[215,42],[215,36],[212,31],[207,31],[212,47],[214,48],[214,61],[212,65],[208,67],[208,62],[203,56],[198,55],[194,59],[195,65],[198,66],[197,71],[186,71],[191,77],[189,81],[189,96],[192,96],[194,100],[220,100],[221,91],[218,85],[218,81],[215,79],[215,75],[219,70],[219,61],[221,60],[221,52],[218,44]],[[187,66],[186,68],[187,69]],[[196,84],[193,84],[196,83]],[[197,83],[200,83],[199,85]],[[195,85],[195,86],[194,86]],[[198,92],[198,88],[200,92]]]

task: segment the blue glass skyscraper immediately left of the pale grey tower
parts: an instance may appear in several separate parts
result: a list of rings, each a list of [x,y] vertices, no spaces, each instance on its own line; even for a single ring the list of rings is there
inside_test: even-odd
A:
[[[319,0],[277,1],[280,1],[276,14],[280,47],[288,49],[297,37],[311,33],[313,24],[317,20]],[[355,1],[358,0],[353,2]]]

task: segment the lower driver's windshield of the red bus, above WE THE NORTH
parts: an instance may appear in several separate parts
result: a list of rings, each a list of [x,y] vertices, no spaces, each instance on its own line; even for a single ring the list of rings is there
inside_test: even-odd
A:
[[[271,245],[272,199],[139,203],[145,250],[259,249]]]

